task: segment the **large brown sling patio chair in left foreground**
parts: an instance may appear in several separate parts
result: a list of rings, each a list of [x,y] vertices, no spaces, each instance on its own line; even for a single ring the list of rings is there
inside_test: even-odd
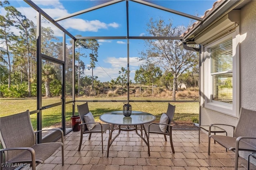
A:
[[[48,130],[34,131],[29,110],[1,117],[0,121],[0,141],[4,148],[0,150],[1,163],[30,163],[32,169],[36,170],[36,165],[44,163],[48,157],[62,147],[62,166],[64,165],[64,137],[61,129],[50,130],[60,131],[62,142],[38,144],[36,133]],[[0,167],[2,170],[3,167]]]

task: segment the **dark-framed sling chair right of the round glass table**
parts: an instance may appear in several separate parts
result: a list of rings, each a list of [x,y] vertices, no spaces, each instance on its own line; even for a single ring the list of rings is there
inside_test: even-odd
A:
[[[165,141],[167,141],[166,139],[166,135],[169,136],[170,138],[170,144],[171,144],[171,147],[172,147],[172,153],[175,153],[174,151],[174,147],[173,147],[173,143],[172,143],[172,125],[171,125],[171,122],[172,122],[172,118],[174,116],[174,111],[175,111],[175,106],[171,105],[170,103],[168,104],[168,109],[167,109],[167,112],[166,112],[166,115],[168,116],[168,122],[166,122],[166,124],[163,124],[163,123],[150,123],[150,124],[145,124],[144,127],[148,133],[148,138],[149,138],[149,134],[150,133],[155,133],[155,134],[162,134],[164,135],[164,139]],[[158,116],[159,117],[159,116]],[[162,117],[162,116],[161,116]],[[160,125],[166,125],[167,126],[167,129],[165,132],[162,132],[161,129],[160,129]],[[149,141],[149,140],[148,140]],[[148,150],[149,149],[149,142],[148,142]],[[149,151],[150,152],[150,151]]]

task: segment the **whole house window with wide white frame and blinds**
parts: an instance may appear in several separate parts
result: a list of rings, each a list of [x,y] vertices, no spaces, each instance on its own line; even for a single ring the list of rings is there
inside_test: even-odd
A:
[[[201,66],[203,107],[233,116],[238,116],[240,107],[237,32],[204,46]]]

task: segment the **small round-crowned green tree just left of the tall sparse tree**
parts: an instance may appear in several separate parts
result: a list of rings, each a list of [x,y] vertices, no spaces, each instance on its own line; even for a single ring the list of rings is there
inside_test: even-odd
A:
[[[146,68],[144,76],[148,83],[152,84],[152,94],[154,94],[154,83],[156,83],[162,76],[162,70],[160,67],[154,66],[153,63],[149,63]]]

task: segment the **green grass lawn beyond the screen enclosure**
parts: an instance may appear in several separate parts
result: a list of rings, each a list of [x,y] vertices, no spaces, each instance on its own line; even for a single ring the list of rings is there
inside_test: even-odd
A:
[[[69,100],[69,99],[68,99]],[[76,98],[78,100],[126,100],[125,97],[112,97],[112,98]],[[148,98],[134,98],[131,100],[159,100],[156,97]],[[161,98],[161,100],[168,100]],[[36,98],[1,98],[0,99],[0,116],[20,113],[29,109],[30,111],[36,110]],[[60,102],[60,98],[46,98],[43,99],[43,106]],[[76,102],[76,105],[83,104],[84,102]],[[130,102],[132,110],[144,111],[154,115],[161,115],[166,112],[167,102]],[[198,102],[174,102],[171,103],[176,106],[174,121],[191,121],[192,117],[198,117],[199,104]],[[103,114],[108,111],[122,110],[122,102],[90,102],[88,103],[90,111],[96,114]],[[77,107],[76,115],[78,115]],[[62,121],[61,106],[51,107],[42,110],[42,126],[43,127],[61,127]],[[72,116],[72,103],[66,105],[66,127],[71,127],[70,117]],[[32,125],[36,129],[37,115],[31,115]],[[96,117],[96,121],[99,118]]]

